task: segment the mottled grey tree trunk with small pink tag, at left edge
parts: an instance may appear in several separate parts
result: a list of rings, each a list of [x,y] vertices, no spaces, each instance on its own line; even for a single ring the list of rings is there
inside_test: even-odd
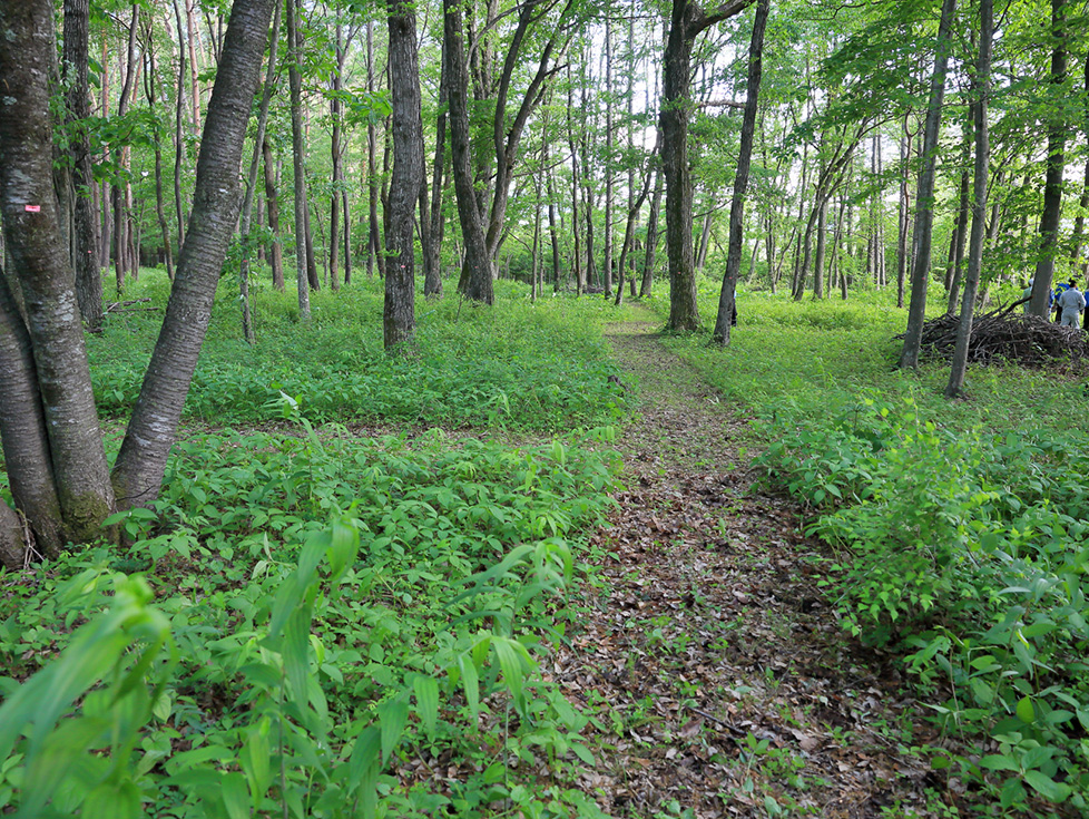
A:
[[[53,192],[49,88],[55,58],[52,3],[8,3],[3,28],[0,213],[6,252],[13,265],[11,274],[21,289],[28,320],[23,335],[17,326],[21,319],[12,300],[7,295],[0,300],[0,371],[4,373],[0,429],[4,462],[17,499],[40,498],[41,480],[51,471],[63,517],[62,523],[53,520],[56,530],[86,543],[101,534],[101,521],[114,508],[114,494]],[[32,369],[26,354],[28,338],[33,351]],[[17,446],[10,442],[13,437],[26,440]],[[14,461],[23,456],[33,460]],[[24,471],[38,476],[32,486],[17,486]],[[48,514],[51,501],[45,503]],[[23,511],[35,532],[55,545],[49,521],[35,520],[31,510]],[[6,539],[22,540],[14,533]]]

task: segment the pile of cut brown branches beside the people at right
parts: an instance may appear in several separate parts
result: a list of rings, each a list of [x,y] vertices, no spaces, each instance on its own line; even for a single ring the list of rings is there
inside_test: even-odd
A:
[[[1023,301],[975,316],[968,345],[970,362],[985,364],[998,359],[1024,367],[1049,367],[1056,360],[1089,357],[1089,335],[1081,328],[1059,326],[1039,315],[1014,312]],[[925,322],[923,352],[951,360],[959,324],[960,316],[952,313]]]

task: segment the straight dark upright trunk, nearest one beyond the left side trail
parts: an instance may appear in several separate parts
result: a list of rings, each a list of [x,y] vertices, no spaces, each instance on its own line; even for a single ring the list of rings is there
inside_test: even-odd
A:
[[[390,92],[393,101],[393,178],[385,234],[386,273],[383,341],[393,350],[415,330],[412,211],[423,184],[423,121],[416,21],[409,0],[386,0],[390,21]]]

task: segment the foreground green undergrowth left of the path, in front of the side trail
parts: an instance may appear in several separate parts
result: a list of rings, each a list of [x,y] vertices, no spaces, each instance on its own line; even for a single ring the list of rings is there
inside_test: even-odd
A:
[[[0,812],[598,816],[540,674],[611,428],[511,448],[315,428],[180,443],[160,499],[0,575]]]

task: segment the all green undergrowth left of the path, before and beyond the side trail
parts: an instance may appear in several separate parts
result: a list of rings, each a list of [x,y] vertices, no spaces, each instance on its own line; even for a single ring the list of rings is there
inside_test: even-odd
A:
[[[107,423],[139,388],[157,275],[92,343]],[[605,308],[422,304],[386,358],[381,299],[316,298],[302,325],[262,293],[249,349],[224,298],[161,497],[114,519],[125,545],[0,576],[0,812],[599,813],[539,779],[592,757],[534,670],[611,505]]]

